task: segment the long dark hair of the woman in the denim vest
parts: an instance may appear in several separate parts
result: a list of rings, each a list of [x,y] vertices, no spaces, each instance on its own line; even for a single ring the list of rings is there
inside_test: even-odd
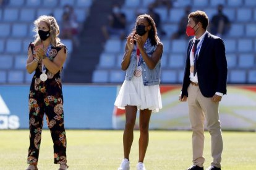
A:
[[[136,33],[136,25],[140,18],[146,19],[148,21],[148,24],[151,25],[151,30],[148,31],[148,38],[150,39],[151,45],[155,46],[155,45],[160,44],[160,39],[157,34],[155,22],[154,22],[153,18],[151,18],[150,15],[148,15],[148,14],[139,15],[137,17],[135,25],[134,25],[134,29],[132,30],[132,33],[129,34],[129,36],[134,37],[134,35]]]

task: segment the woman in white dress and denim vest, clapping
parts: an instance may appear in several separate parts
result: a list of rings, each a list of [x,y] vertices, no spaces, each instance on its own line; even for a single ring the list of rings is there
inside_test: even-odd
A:
[[[118,170],[129,170],[129,154],[134,139],[137,110],[140,110],[139,161],[137,169],[145,170],[143,164],[148,147],[148,126],[151,112],[162,108],[160,94],[161,55],[163,44],[157,35],[155,22],[150,15],[137,17],[134,30],[129,34],[121,66],[126,79],[117,95],[116,105],[126,110],[126,127],[123,145],[124,160]]]

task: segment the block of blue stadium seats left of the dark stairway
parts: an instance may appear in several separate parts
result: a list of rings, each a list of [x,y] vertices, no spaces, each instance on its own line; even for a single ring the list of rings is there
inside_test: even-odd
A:
[[[0,83],[28,83],[33,75],[25,70],[27,49],[33,41],[33,21],[40,15],[53,14],[61,26],[63,6],[74,6],[77,20],[85,22],[93,0],[9,0],[0,9]],[[62,39],[69,55],[70,39]],[[66,62],[67,63],[67,62]]]

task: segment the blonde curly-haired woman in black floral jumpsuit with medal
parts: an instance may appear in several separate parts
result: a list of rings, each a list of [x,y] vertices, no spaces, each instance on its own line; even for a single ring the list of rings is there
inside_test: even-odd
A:
[[[51,131],[54,144],[54,163],[59,170],[67,169],[66,132],[64,129],[63,95],[61,85],[62,66],[67,48],[61,43],[59,25],[52,16],[42,15],[34,22],[35,41],[28,46],[27,71],[35,74],[29,93],[30,146],[27,170],[37,168],[41,143],[43,116]]]

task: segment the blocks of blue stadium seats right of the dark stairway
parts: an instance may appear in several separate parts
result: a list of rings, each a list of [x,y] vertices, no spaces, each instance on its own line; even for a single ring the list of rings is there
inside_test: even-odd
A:
[[[122,6],[122,11],[127,15],[129,28],[127,33],[134,27],[135,11],[137,9],[147,11],[147,6],[153,0],[129,1],[126,0]],[[163,30],[166,36],[161,36],[164,44],[164,52],[161,59],[161,82],[162,83],[182,83],[183,70],[185,64],[185,55],[187,50],[187,39],[171,40],[170,36],[177,30],[179,19],[184,15],[184,8],[187,5],[192,6],[194,10],[205,10],[209,20],[216,14],[216,6],[223,4],[223,13],[231,21],[229,33],[222,37],[226,47],[226,57],[228,61],[228,83],[255,83],[256,81],[256,1],[254,0],[176,0],[173,1],[173,8],[169,11],[164,7],[156,8],[155,11],[160,14]],[[184,28],[186,29],[186,28]],[[123,42],[125,44],[125,42]],[[117,47],[118,46],[118,47]],[[97,78],[93,78],[93,83],[122,83],[124,77],[118,81],[118,76],[114,76],[114,71],[120,71],[121,60],[124,45],[121,46],[119,54],[119,44],[116,38],[110,38],[106,42],[102,56],[108,55],[108,59],[116,59],[116,64],[105,61],[102,65],[96,67]],[[115,51],[113,51],[113,48]],[[112,55],[112,57],[111,57]],[[116,58],[116,56],[118,56]],[[108,65],[109,67],[106,67]],[[114,66],[111,66],[114,65]],[[104,74],[98,74],[102,73]],[[125,71],[123,71],[125,73]],[[108,74],[108,76],[106,76]],[[96,75],[96,74],[94,74]],[[102,79],[102,81],[101,81]],[[115,79],[113,81],[113,79]]]

